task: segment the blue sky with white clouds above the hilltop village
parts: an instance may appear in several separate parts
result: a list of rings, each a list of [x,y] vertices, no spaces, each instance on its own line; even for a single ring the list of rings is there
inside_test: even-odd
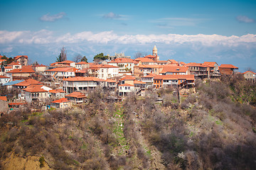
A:
[[[91,62],[100,52],[256,69],[256,1],[0,0],[0,54],[55,62],[65,47]]]

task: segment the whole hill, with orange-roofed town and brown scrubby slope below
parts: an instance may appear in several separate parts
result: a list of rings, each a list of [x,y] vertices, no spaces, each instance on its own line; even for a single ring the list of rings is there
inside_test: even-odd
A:
[[[254,72],[62,53],[1,57],[0,169],[255,169]]]

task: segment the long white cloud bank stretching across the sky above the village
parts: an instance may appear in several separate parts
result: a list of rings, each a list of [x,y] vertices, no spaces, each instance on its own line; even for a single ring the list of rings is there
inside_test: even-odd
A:
[[[256,42],[256,35],[247,34],[242,36],[225,36],[225,35],[178,35],[178,34],[161,34],[161,35],[117,35],[113,31],[104,31],[92,33],[84,31],[81,33],[55,36],[53,31],[39,30],[31,31],[6,31],[0,30],[0,44],[54,44],[54,43],[86,43],[95,44],[122,44],[137,45],[151,42],[176,44],[183,43],[198,44],[204,46],[237,46],[242,42]]]

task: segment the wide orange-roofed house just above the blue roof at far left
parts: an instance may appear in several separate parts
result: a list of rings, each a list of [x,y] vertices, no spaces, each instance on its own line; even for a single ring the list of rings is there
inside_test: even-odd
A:
[[[11,77],[12,80],[30,79],[32,74],[34,74],[31,66],[23,66],[21,69],[12,69],[6,72],[7,77]]]

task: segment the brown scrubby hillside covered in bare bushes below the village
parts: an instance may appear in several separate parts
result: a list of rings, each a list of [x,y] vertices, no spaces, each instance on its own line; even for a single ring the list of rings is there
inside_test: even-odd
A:
[[[4,115],[0,169],[12,153],[51,169],[256,169],[255,84],[235,75],[176,94],[115,102],[97,89],[70,110]]]

